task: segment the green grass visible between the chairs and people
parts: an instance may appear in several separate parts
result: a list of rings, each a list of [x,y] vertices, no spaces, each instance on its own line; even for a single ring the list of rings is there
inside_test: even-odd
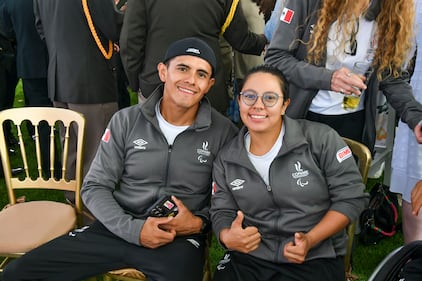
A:
[[[131,93],[132,104],[137,103],[137,97]],[[20,107],[24,105],[22,85],[19,83],[16,89],[15,106]],[[376,181],[382,179],[369,180],[367,187],[371,188]],[[27,197],[37,198],[40,196],[37,193],[29,193]],[[4,179],[0,179],[0,209],[8,203],[6,187]],[[372,271],[375,269],[377,264],[393,249],[399,247],[403,243],[403,235],[398,232],[392,238],[384,239],[377,245],[365,246],[362,245],[358,239],[356,239],[356,247],[353,253],[353,273],[357,275],[359,281],[367,280]],[[210,262],[211,270],[213,271],[216,267],[219,259],[222,257],[224,250],[220,247],[215,237],[213,237],[211,248],[210,248]]]

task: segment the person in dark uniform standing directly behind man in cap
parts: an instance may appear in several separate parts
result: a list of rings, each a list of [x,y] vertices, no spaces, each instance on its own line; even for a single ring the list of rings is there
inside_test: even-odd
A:
[[[120,37],[123,66],[129,86],[142,101],[160,84],[157,64],[171,42],[199,37],[214,50],[216,82],[210,90],[211,105],[225,114],[229,96],[219,46],[222,27],[229,15],[224,38],[236,50],[260,55],[267,43],[263,34],[250,32],[236,0],[129,0]],[[233,7],[233,9],[232,9]],[[263,33],[263,31],[261,32]]]

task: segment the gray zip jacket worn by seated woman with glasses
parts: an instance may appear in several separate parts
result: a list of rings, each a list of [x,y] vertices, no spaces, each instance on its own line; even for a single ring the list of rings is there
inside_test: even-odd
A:
[[[213,168],[211,221],[217,237],[230,228],[237,210],[244,226],[256,226],[262,241],[250,254],[283,263],[284,245],[308,232],[329,210],[358,218],[368,203],[362,177],[341,137],[324,124],[284,117],[283,145],[270,166],[269,185],[249,161],[243,128],[222,149]],[[341,231],[311,249],[307,260],[346,253]]]

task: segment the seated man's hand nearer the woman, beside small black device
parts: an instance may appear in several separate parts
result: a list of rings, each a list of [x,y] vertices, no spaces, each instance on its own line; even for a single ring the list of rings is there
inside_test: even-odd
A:
[[[176,196],[172,196],[171,199],[176,204],[179,213],[167,223],[160,224],[160,227],[164,230],[175,231],[177,236],[200,233],[202,227],[201,218],[192,214]]]

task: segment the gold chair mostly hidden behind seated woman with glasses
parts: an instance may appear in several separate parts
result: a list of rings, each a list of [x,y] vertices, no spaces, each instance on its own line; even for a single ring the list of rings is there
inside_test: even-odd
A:
[[[357,159],[357,164],[359,167],[360,174],[362,175],[362,181],[364,184],[366,184],[368,180],[368,172],[369,167],[371,165],[371,152],[369,149],[362,143],[348,139],[343,138],[343,140],[346,142],[346,144],[350,147],[352,150],[352,154]],[[356,224],[358,222],[354,221],[347,227],[347,252],[344,257],[344,265],[346,269],[346,279],[348,279],[352,273],[352,266],[351,266],[351,257],[352,257],[352,249],[353,249],[353,239],[355,237],[355,231],[356,231]]]

